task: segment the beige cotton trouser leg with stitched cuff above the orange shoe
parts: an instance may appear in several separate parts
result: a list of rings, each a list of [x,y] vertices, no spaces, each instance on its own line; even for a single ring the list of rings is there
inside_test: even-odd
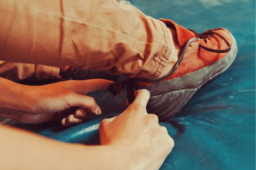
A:
[[[115,0],[0,0],[0,23],[4,61],[156,78],[171,55],[163,22]]]

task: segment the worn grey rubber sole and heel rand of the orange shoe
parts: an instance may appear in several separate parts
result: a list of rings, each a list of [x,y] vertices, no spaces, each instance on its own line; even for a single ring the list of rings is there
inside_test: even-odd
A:
[[[232,34],[231,36],[231,50],[217,62],[188,75],[146,86],[138,86],[139,89],[147,89],[150,92],[150,99],[146,107],[147,112],[156,114],[159,121],[171,118],[201,86],[228,69],[237,54],[236,40]]]

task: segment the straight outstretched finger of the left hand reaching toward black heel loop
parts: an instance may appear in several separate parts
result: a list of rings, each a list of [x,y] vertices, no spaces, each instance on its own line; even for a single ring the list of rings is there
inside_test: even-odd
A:
[[[112,83],[113,81],[110,80],[96,78],[90,80],[69,80],[64,86],[79,94],[87,94],[88,92],[107,89]]]

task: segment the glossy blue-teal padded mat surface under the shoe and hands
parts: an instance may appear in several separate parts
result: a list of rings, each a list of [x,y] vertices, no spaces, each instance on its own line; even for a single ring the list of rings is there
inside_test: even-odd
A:
[[[186,28],[203,32],[229,29],[238,43],[230,68],[203,86],[162,125],[175,147],[160,169],[255,169],[255,1],[252,0],[134,0],[131,3],[154,18],[171,18]],[[125,96],[106,91],[91,93],[103,114],[119,114]],[[71,128],[58,122],[16,127],[69,143],[98,144],[102,118]]]

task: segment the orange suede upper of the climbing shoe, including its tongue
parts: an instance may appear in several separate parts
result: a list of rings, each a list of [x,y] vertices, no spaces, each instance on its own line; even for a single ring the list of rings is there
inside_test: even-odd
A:
[[[192,73],[194,71],[197,71],[203,67],[206,67],[212,63],[215,63],[219,59],[226,56],[227,52],[223,52],[224,49],[228,49],[230,45],[232,44],[232,37],[230,35],[230,32],[225,28],[216,28],[214,30],[208,30],[212,31],[212,35],[206,35],[205,39],[197,37],[196,33],[193,31],[190,31],[188,29],[185,29],[184,27],[176,24],[172,20],[168,19],[160,19],[163,21],[167,27],[176,29],[177,32],[177,40],[179,42],[180,46],[183,46],[187,41],[189,41],[192,38],[195,38],[193,42],[189,44],[189,46],[185,49],[185,52],[182,56],[182,60],[179,63],[178,67],[176,67],[176,70],[167,78],[161,81],[170,80],[173,78],[177,78],[183,75],[187,75],[189,73]],[[200,34],[199,34],[200,35]],[[220,36],[219,36],[220,35]],[[224,39],[222,38],[224,37]],[[225,42],[225,40],[228,42]],[[204,46],[209,49],[214,49],[217,52],[212,52],[209,50],[206,50],[202,48],[201,46]],[[218,50],[223,50],[222,52],[218,52]],[[152,80],[152,82],[156,82],[156,79]],[[152,82],[137,82],[139,86],[145,86],[148,84],[152,84]]]

